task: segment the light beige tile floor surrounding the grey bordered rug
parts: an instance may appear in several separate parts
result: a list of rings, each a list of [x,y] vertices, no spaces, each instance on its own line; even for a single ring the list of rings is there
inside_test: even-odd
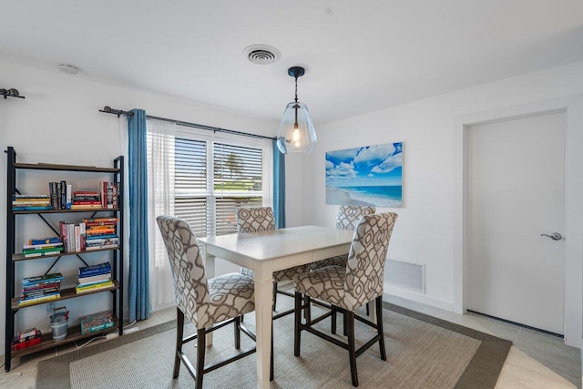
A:
[[[566,346],[562,339],[472,313],[460,315],[393,296],[387,301],[512,341],[514,345],[506,359],[496,388],[581,387],[580,351]],[[175,308],[169,308],[152,312],[147,321],[138,322],[135,325],[139,329],[144,329],[168,322],[175,316]],[[99,340],[93,343],[97,342],[107,341]],[[12,370],[9,373],[0,373],[0,388],[35,388],[36,364],[39,361],[74,350],[76,346],[70,344],[13,360]],[[13,379],[13,377],[16,378]]]

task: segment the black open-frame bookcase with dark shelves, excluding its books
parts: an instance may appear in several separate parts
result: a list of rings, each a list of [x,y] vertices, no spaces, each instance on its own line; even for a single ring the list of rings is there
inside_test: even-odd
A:
[[[6,169],[6,292],[5,292],[5,371],[8,372],[10,370],[11,361],[13,358],[27,355],[30,353],[36,353],[42,350],[46,350],[52,347],[56,347],[58,345],[76,342],[81,339],[92,338],[100,333],[111,333],[113,331],[117,331],[119,335],[123,334],[123,292],[124,292],[124,285],[123,285],[123,274],[124,274],[124,265],[123,265],[123,228],[124,225],[124,203],[123,203],[123,185],[124,185],[124,158],[122,156],[118,157],[117,159],[113,160],[113,167],[112,168],[101,168],[95,166],[77,166],[77,165],[59,165],[59,164],[51,164],[51,163],[20,163],[16,162],[16,152],[15,149],[12,147],[8,147],[6,149],[7,154],[7,169]],[[45,170],[45,171],[63,171],[63,172],[85,172],[87,175],[92,173],[100,173],[103,175],[104,173],[113,178],[113,181],[117,183],[115,186],[118,189],[118,197],[114,199],[118,200],[118,208],[85,208],[80,210],[13,210],[13,197],[16,194],[20,194],[20,191],[16,188],[16,180],[19,176],[18,171],[20,170]],[[25,181],[26,179],[30,179],[31,176],[24,175],[21,177],[18,182],[22,184],[21,181]],[[38,176],[35,175],[35,179]],[[77,177],[77,176],[75,176]],[[96,176],[97,177],[97,176]],[[90,178],[87,176],[86,178]],[[85,178],[83,178],[85,179]],[[81,179],[81,180],[83,180]],[[110,182],[110,181],[109,181]],[[51,184],[52,185],[52,184]],[[52,188],[52,187],[51,187]],[[115,205],[115,201],[114,201]],[[26,258],[24,254],[20,253],[20,250],[16,249],[15,241],[16,241],[16,233],[22,234],[23,226],[26,230],[26,226],[28,223],[35,223],[35,220],[31,220],[30,218],[18,218],[19,215],[37,215],[38,220],[43,220],[46,223],[46,226],[52,230],[51,234],[55,232],[55,235],[58,235],[57,230],[60,230],[60,226],[55,226],[54,224],[56,221],[52,220],[51,218],[46,218],[43,216],[44,214],[56,214],[56,213],[74,213],[79,214],[79,212],[88,213],[89,219],[98,218],[99,214],[103,214],[101,217],[105,218],[118,218],[117,219],[117,234],[118,234],[118,246],[117,247],[107,247],[103,249],[97,250],[90,250],[90,251],[69,251],[69,252],[60,252],[56,254],[50,254],[46,256],[39,256],[39,257],[29,257]],[[79,216],[81,216],[79,214]],[[36,218],[33,218],[36,219]],[[19,221],[22,220],[22,221]],[[18,223],[18,229],[16,228],[16,224]],[[20,223],[24,223],[23,226]],[[21,240],[22,241],[22,240]],[[78,244],[78,242],[77,242]],[[20,247],[22,249],[22,247]],[[16,252],[19,251],[19,252]],[[50,261],[46,262],[39,262],[41,264],[46,263],[48,270],[46,273],[49,273],[51,269],[55,266],[56,262],[61,259],[61,257],[66,256],[77,256],[77,258],[83,262],[83,264],[79,264],[79,266],[87,265],[87,261],[83,258],[87,254],[93,252],[100,252],[100,251],[109,251],[111,254],[107,254],[110,258],[109,262],[111,264],[111,278],[114,282],[113,286],[99,289],[97,291],[87,291],[83,293],[76,292],[75,288],[62,288],[60,290],[60,297],[55,300],[49,300],[44,302],[34,302],[30,304],[20,305],[19,304],[19,296],[21,294],[21,290],[17,290],[17,287],[20,287],[19,282],[15,280],[16,268],[17,266],[23,266],[22,263],[27,261],[37,261],[37,260],[44,260],[44,259],[51,259]],[[87,256],[87,260],[91,259],[91,256]],[[99,261],[104,261],[103,255],[99,256]],[[68,260],[71,261],[71,260]],[[67,263],[67,266],[69,262]],[[52,264],[50,264],[52,263]],[[50,264],[50,267],[48,265]],[[63,269],[63,268],[61,268]],[[26,267],[25,267],[26,272]],[[63,271],[66,273],[66,271]],[[22,271],[18,272],[19,274]],[[77,271],[75,271],[77,274]],[[36,276],[39,274],[29,274],[32,276]],[[28,275],[27,275],[28,276]],[[20,276],[19,276],[20,277]],[[70,277],[70,276],[69,276]],[[67,278],[67,277],[66,277]],[[77,278],[77,276],[75,276]],[[66,280],[66,283],[72,283],[72,281],[76,280]],[[29,307],[43,305],[46,303],[51,302],[60,302],[62,300],[68,299],[75,299],[78,297],[83,296],[92,296],[96,293],[101,292],[110,292],[111,293],[111,311],[114,314],[114,322],[115,326],[112,328],[108,328],[106,330],[97,332],[97,333],[88,333],[88,334],[81,334],[80,326],[69,326],[67,331],[67,336],[65,339],[60,341],[53,341],[51,331],[47,331],[42,336],[42,341],[39,344],[35,344],[29,346],[22,350],[13,350],[12,348],[12,339],[15,336],[16,332],[19,330],[15,328],[15,315],[17,312],[24,310]],[[91,297],[87,297],[87,303],[90,303]],[[70,320],[73,322],[75,321],[75,317],[72,317]],[[23,325],[22,323],[19,325]],[[30,326],[31,323],[28,323]],[[34,323],[32,324],[34,325]],[[26,326],[26,323],[24,324]],[[41,328],[42,330],[42,328]]]

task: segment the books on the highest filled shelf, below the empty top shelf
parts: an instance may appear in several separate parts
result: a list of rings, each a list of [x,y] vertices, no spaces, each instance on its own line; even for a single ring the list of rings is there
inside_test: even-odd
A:
[[[103,181],[97,190],[76,190],[65,180],[48,183],[48,195],[13,196],[13,210],[118,209],[118,182]]]

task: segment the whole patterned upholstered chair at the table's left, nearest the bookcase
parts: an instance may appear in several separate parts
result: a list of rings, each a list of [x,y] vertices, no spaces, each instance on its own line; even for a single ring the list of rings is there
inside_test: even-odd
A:
[[[196,387],[200,388],[205,373],[255,353],[255,347],[253,347],[220,363],[204,365],[205,334],[219,328],[213,326],[214,324],[234,322],[235,348],[238,350],[241,331],[251,339],[255,339],[254,335],[240,323],[240,317],[244,313],[255,310],[253,279],[240,273],[207,279],[199,246],[194,233],[190,230],[189,223],[170,216],[159,216],[156,220],[166,251],[168,251],[177,305],[178,322],[173,377],[178,378],[180,361],[182,361],[189,374],[196,380]],[[185,316],[196,326],[197,333],[183,338]],[[182,353],[182,345],[195,339],[197,340],[197,364],[196,370],[193,371],[189,358]]]

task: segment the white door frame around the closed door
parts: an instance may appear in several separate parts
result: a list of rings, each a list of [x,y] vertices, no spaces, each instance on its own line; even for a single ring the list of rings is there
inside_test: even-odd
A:
[[[464,115],[454,122],[454,312],[464,313],[467,261],[467,131],[493,121],[565,112],[565,343],[583,347],[583,95]]]

